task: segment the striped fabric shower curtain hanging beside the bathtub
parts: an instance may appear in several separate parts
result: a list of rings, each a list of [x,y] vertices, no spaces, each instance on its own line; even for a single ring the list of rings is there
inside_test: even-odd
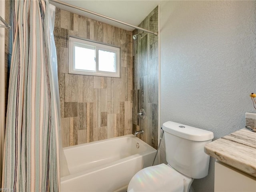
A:
[[[58,82],[49,11],[48,0],[15,1],[2,175],[8,191],[60,190]]]

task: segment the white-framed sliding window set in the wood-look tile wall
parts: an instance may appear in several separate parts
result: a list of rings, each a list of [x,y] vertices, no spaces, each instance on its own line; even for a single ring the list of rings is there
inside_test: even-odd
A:
[[[69,38],[72,74],[120,77],[120,48]]]

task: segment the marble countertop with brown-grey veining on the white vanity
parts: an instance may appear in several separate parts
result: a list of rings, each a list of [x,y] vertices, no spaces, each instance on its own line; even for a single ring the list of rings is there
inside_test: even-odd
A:
[[[204,152],[256,177],[256,132],[240,129],[206,144]]]

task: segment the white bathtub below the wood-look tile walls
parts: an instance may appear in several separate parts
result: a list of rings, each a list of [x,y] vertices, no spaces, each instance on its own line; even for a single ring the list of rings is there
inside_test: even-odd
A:
[[[66,147],[64,154],[70,175],[60,178],[61,192],[126,192],[132,176],[152,165],[156,150],[131,134]]]

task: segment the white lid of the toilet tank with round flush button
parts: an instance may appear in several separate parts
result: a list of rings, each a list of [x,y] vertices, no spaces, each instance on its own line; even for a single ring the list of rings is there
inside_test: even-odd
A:
[[[165,132],[192,141],[208,141],[214,138],[213,132],[211,131],[172,121],[165,122],[162,128]]]

